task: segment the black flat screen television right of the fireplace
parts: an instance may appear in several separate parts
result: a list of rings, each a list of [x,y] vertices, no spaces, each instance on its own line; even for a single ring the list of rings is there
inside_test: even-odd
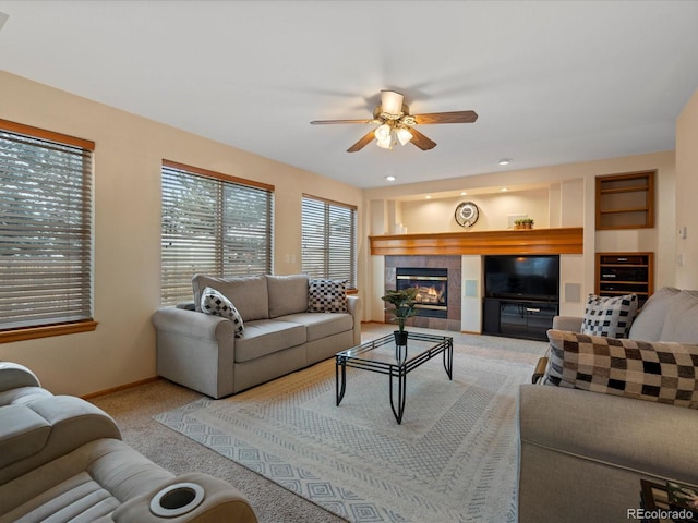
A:
[[[485,297],[559,301],[559,256],[485,256]]]

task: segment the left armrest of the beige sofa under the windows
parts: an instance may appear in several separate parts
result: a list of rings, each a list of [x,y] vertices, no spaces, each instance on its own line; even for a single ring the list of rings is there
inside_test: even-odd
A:
[[[212,398],[233,392],[234,331],[228,318],[163,307],[153,325],[159,376]]]

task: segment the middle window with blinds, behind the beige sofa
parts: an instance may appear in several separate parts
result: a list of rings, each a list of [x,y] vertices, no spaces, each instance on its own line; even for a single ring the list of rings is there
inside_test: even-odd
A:
[[[192,276],[272,272],[274,186],[163,161],[161,302],[192,299]]]

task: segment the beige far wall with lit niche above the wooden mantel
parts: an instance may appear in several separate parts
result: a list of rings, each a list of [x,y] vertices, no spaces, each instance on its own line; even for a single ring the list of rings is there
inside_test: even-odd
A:
[[[698,105],[698,104],[697,104]],[[657,221],[652,229],[595,231],[595,177],[624,172],[657,170]],[[519,185],[513,183],[517,181]],[[545,190],[530,190],[529,186],[545,185]],[[508,186],[510,192],[498,193],[498,187]],[[492,188],[495,192],[473,196],[453,196],[453,193]],[[424,194],[432,199],[423,199]],[[438,197],[438,193],[446,196]],[[416,195],[422,195],[414,199]],[[565,255],[561,260],[561,314],[580,315],[583,299],[594,292],[594,253],[622,251],[650,251],[655,253],[655,288],[673,285],[675,276],[675,165],[674,151],[654,153],[598,161],[552,166],[538,169],[496,172],[477,177],[431,181],[409,185],[398,185],[364,191],[368,207],[381,207],[388,212],[374,212],[372,230],[386,229],[376,223],[378,217],[392,219],[389,209],[397,205],[400,222],[408,233],[449,232],[462,230],[454,220],[454,209],[458,202],[471,199],[481,210],[482,221],[472,230],[501,230],[507,228],[508,214],[528,214],[535,219],[535,227],[583,227],[582,256]],[[431,230],[429,230],[431,228]],[[698,227],[696,228],[698,231]],[[698,255],[698,253],[697,253]],[[697,256],[698,257],[698,256]],[[369,278],[382,278],[372,271]],[[365,283],[365,282],[364,282]],[[381,282],[371,282],[374,289]],[[567,287],[566,287],[567,285]],[[569,287],[571,285],[571,287]],[[579,290],[574,300],[566,300],[565,290]],[[364,296],[366,315],[376,319],[382,314],[380,295]]]

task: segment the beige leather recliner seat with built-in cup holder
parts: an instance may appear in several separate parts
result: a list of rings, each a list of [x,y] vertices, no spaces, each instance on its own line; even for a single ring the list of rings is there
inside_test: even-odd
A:
[[[121,440],[104,411],[53,396],[21,365],[0,362],[0,523],[254,523],[232,486],[174,476]]]

